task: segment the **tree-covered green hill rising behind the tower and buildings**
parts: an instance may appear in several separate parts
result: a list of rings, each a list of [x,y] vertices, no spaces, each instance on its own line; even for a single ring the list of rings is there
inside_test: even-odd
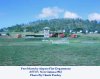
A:
[[[51,19],[51,20],[38,20],[34,22],[30,22],[28,24],[16,24],[11,27],[0,29],[1,32],[9,31],[9,32],[39,32],[43,30],[43,27],[50,27],[52,31],[58,31],[65,29],[66,32],[69,30],[79,31],[83,30],[94,32],[97,30],[100,33],[100,23],[97,21],[89,21],[82,19]]]

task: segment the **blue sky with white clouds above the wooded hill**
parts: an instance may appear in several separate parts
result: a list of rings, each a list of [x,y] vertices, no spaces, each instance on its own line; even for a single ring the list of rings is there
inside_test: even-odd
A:
[[[100,21],[100,0],[0,0],[0,28],[53,18]]]

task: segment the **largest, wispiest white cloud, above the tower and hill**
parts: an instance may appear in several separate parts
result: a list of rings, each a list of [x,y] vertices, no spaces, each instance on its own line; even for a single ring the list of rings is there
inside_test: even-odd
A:
[[[38,18],[58,18],[59,14],[63,12],[63,9],[58,7],[43,8],[42,12],[38,15]]]

